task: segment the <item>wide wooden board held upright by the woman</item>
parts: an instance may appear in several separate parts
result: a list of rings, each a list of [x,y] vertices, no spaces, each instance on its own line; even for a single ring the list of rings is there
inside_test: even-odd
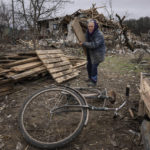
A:
[[[73,28],[73,31],[74,31],[77,39],[82,43],[85,42],[86,41],[85,35],[83,33],[83,30],[80,26],[80,23],[79,23],[79,20],[77,17],[73,20],[72,28]],[[86,49],[84,48],[83,50],[84,50],[84,54],[86,54]]]

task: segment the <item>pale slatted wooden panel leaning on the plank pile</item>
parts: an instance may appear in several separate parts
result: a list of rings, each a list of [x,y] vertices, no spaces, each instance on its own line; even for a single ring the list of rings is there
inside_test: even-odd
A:
[[[38,57],[57,83],[62,83],[79,75],[62,50],[37,50]]]

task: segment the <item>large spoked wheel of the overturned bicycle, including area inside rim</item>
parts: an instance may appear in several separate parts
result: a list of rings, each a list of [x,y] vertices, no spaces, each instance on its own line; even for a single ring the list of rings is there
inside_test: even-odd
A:
[[[52,112],[61,106],[63,109]],[[68,87],[50,87],[32,95],[24,103],[19,124],[24,138],[39,148],[53,149],[72,141],[84,127],[85,100]]]

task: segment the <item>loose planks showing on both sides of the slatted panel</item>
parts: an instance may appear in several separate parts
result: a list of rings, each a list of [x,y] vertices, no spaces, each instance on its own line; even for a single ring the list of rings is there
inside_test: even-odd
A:
[[[73,68],[78,68],[86,64],[86,61],[82,58],[66,57],[72,63]],[[54,64],[56,63],[58,62],[55,61]],[[65,71],[65,68],[63,71]],[[11,93],[14,83],[20,80],[31,79],[46,74],[48,74],[48,70],[35,51],[0,56],[0,96]]]

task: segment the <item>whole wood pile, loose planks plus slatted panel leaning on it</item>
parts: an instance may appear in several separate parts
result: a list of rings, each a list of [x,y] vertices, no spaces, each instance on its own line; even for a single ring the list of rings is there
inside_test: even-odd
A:
[[[62,83],[78,76],[75,68],[86,64],[85,59],[66,56],[60,49],[5,55],[0,60],[0,96],[9,93],[14,82],[48,72],[57,83]]]

